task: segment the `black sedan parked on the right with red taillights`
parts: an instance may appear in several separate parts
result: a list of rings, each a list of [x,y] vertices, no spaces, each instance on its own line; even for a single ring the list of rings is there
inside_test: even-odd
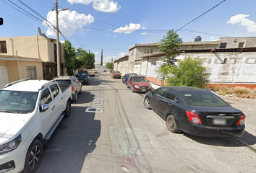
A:
[[[163,86],[145,94],[144,107],[163,117],[174,133],[231,138],[244,133],[244,113],[206,89]]]

